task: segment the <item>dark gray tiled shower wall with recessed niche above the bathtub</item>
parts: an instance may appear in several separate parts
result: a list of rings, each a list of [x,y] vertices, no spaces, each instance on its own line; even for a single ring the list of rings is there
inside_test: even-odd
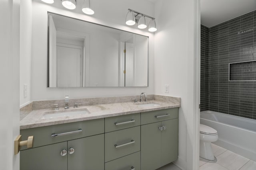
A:
[[[228,74],[229,63],[254,60],[256,11],[210,28],[201,25],[201,111],[218,111],[256,119],[255,66],[248,63],[241,72],[244,74],[249,70],[249,79],[253,81],[229,81]]]

